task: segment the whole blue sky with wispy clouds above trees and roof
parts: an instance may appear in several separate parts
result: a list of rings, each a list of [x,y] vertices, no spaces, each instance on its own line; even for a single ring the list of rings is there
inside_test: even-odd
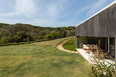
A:
[[[0,0],[0,23],[76,26],[115,0]]]

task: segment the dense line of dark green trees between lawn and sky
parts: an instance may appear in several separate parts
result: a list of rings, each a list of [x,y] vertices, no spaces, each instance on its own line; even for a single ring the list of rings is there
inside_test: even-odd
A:
[[[13,42],[28,42],[53,40],[74,36],[75,27],[40,27],[30,24],[0,23],[0,44]]]

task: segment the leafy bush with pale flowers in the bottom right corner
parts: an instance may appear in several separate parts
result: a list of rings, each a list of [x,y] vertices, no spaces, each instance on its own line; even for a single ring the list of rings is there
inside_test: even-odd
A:
[[[91,77],[113,77],[115,76],[115,69],[114,65],[116,64],[111,64],[108,63],[109,65],[106,65],[105,62],[100,62],[99,60],[97,61],[94,58],[95,64],[91,67]]]

